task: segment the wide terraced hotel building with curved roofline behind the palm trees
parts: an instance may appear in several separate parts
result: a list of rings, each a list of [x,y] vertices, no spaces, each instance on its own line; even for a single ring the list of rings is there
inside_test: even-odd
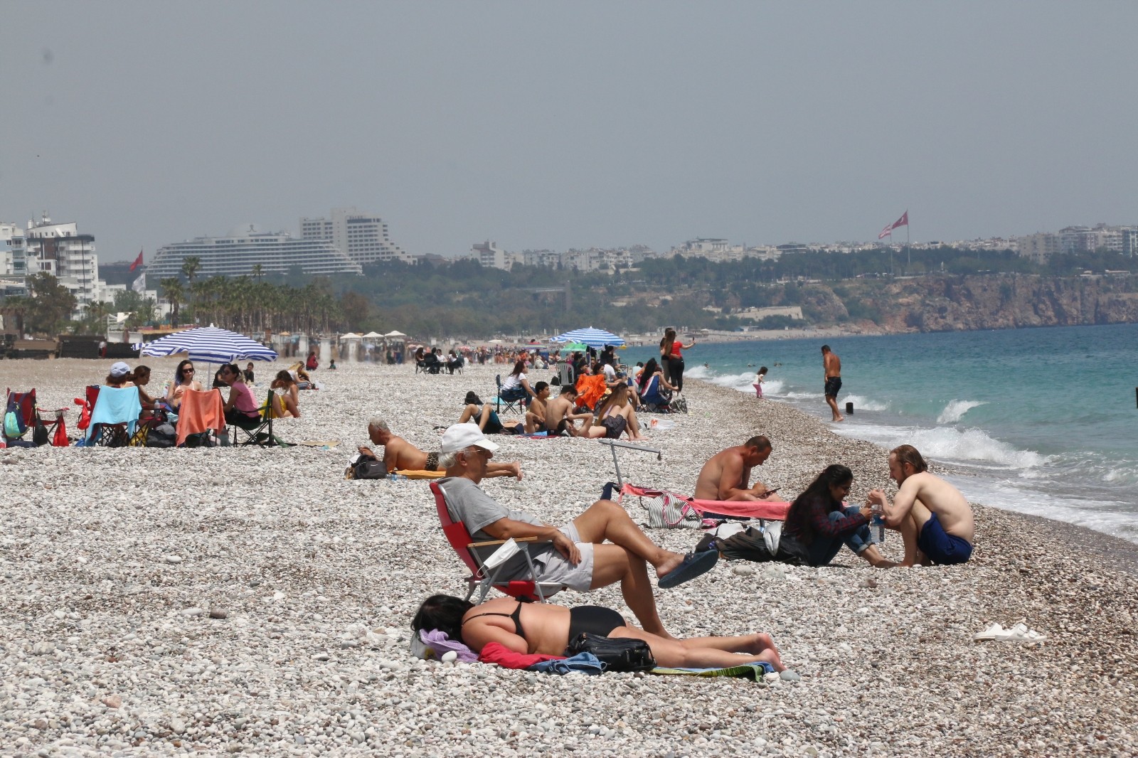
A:
[[[198,277],[246,277],[253,267],[264,273],[288,273],[298,266],[306,274],[363,273],[358,262],[322,239],[297,239],[286,232],[261,232],[254,224],[225,237],[197,237],[158,248],[147,266],[147,278],[156,282],[180,277],[185,258],[196,256]]]

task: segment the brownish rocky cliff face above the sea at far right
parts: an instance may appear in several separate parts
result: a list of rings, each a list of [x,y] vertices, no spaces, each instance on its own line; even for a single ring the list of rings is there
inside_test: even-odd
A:
[[[1135,288],[1129,277],[922,277],[858,287],[846,304],[858,300],[851,312],[872,306],[890,332],[1132,323]]]

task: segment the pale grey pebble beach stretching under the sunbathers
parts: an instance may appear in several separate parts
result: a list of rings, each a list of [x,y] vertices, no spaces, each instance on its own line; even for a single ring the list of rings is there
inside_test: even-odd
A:
[[[0,361],[0,385],[72,407],[74,434],[72,401],[109,363]],[[159,392],[176,361],[147,364]],[[256,365],[258,398],[275,368]],[[435,427],[457,420],[468,390],[493,397],[508,370],[321,369],[303,418],[275,432],[324,445],[0,451],[0,755],[1138,753],[1136,545],[983,504],[960,567],[877,570],[843,549],[828,567],[720,561],[657,590],[674,635],[768,632],[799,681],[415,659],[415,609],[463,595],[464,567],[426,481],[344,469],[374,415],[437,450]],[[884,450],[785,404],[696,380],[685,396],[674,428],[645,432],[659,460],[621,452],[626,480],[691,493],[711,454],[765,434],[774,453],[757,476],[785,496],[830,463],[853,470],[851,502],[888,484]],[[484,489],[554,524],[616,477],[596,440],[495,442],[525,477]],[[700,537],[649,534],[682,552]],[[900,559],[899,535],[883,553]],[[553,602],[632,616],[616,586]],[[1019,621],[1047,640],[974,641]]]

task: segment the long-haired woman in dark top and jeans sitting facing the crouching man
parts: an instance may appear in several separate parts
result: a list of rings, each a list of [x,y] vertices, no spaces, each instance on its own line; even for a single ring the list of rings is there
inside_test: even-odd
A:
[[[887,561],[869,534],[873,509],[842,501],[849,495],[853,472],[841,463],[827,465],[806,491],[794,499],[783,526],[783,542],[798,543],[801,550],[787,552],[805,555],[810,566],[825,566],[846,543],[850,550],[880,568],[896,566]],[[787,545],[787,547],[792,547]],[[783,552],[780,549],[780,552]]]

